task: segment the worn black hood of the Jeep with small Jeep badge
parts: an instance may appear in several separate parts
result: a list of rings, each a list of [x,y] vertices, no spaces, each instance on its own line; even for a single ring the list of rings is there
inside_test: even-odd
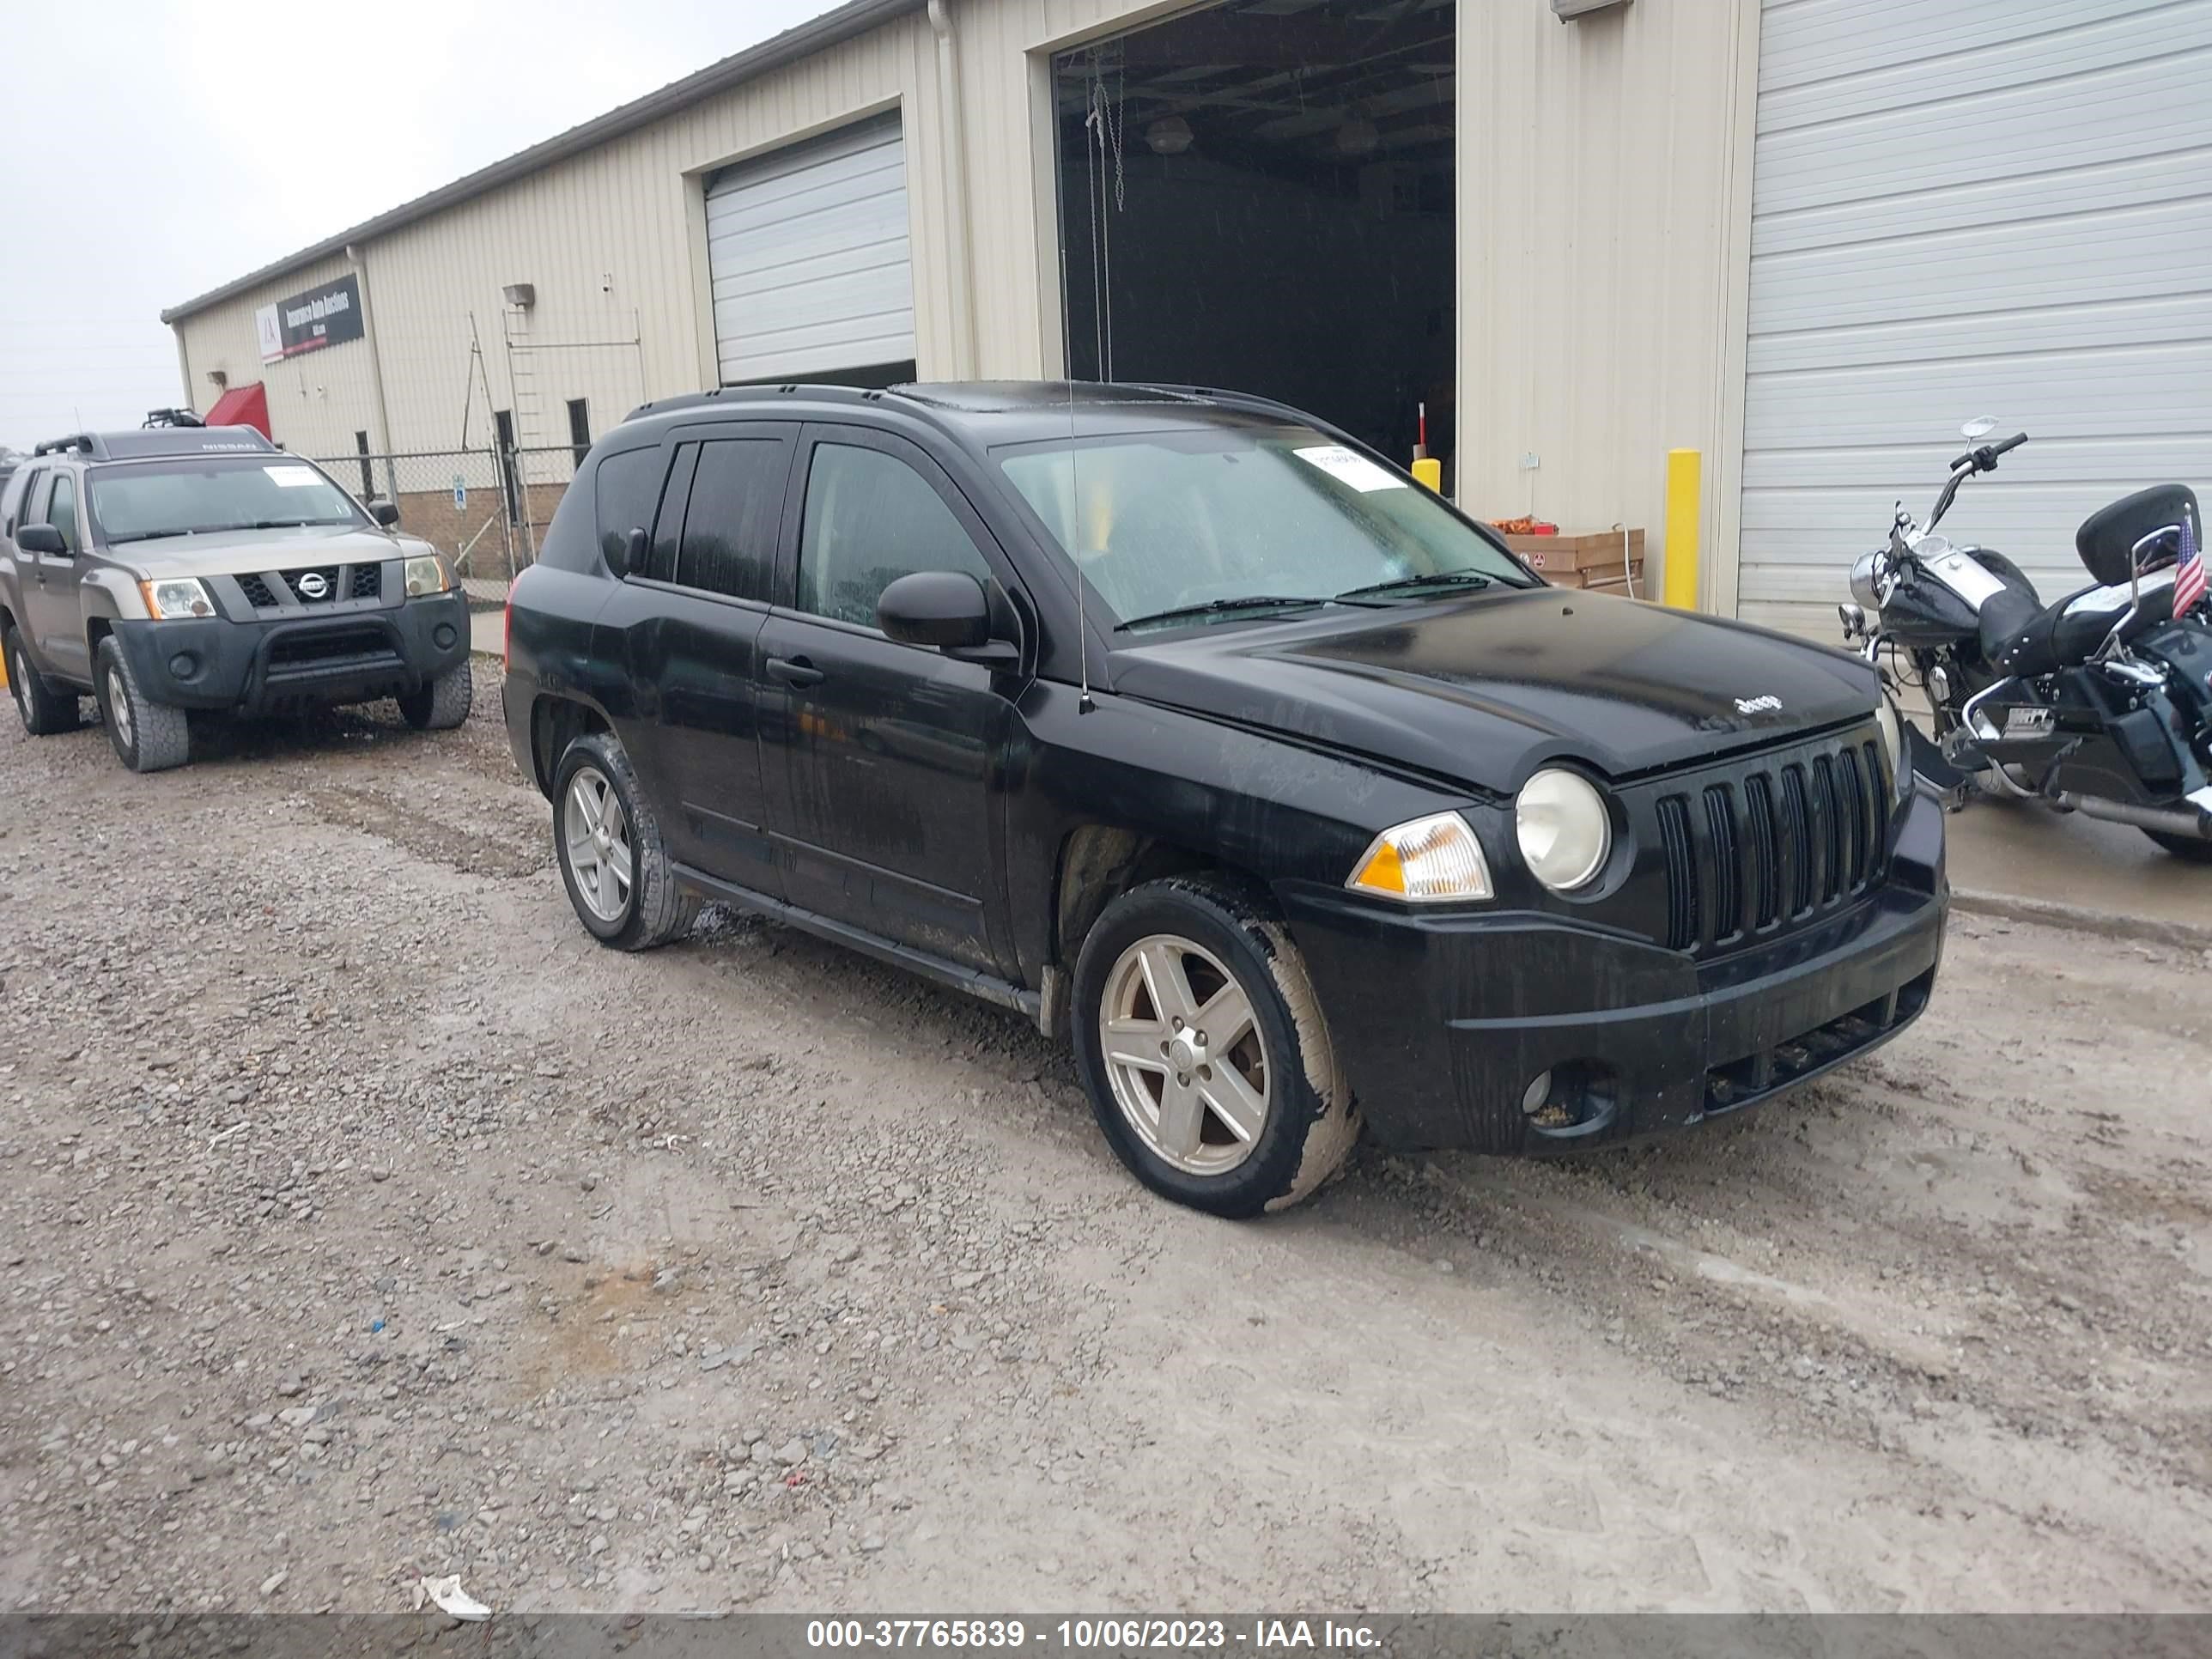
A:
[[[1571,588],[1188,633],[1117,650],[1113,688],[1500,792],[1553,759],[1628,779],[1878,697],[1843,650]]]

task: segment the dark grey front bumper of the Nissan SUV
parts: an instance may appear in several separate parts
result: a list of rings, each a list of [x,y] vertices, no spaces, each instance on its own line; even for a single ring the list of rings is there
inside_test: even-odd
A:
[[[469,602],[456,591],[310,619],[117,622],[115,641],[157,703],[279,714],[422,690],[469,659]]]

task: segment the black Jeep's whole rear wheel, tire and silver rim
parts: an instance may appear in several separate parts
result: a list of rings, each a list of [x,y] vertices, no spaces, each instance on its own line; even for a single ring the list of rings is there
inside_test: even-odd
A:
[[[699,900],[677,891],[659,818],[611,732],[575,739],[553,774],[553,856],[575,916],[617,951],[690,931]]]

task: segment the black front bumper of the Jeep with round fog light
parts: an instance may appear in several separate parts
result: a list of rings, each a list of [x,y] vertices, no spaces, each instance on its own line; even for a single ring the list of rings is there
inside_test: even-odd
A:
[[[1559,1152],[1770,1099],[1893,1037],[1933,989],[1949,887],[1942,810],[1918,794],[1880,887],[1703,962],[1557,916],[1281,898],[1378,1141]],[[1546,1071],[1559,1106],[1531,1119]]]

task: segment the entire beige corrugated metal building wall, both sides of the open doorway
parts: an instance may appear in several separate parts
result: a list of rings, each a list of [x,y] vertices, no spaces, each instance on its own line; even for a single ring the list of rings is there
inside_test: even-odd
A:
[[[1179,9],[953,2],[969,372],[1060,369],[1048,53]],[[1546,0],[1460,4],[1462,500],[1571,529],[1626,520],[1657,549],[1666,449],[1701,447],[1721,604],[1732,602],[1754,55],[1752,0],[1635,0],[1573,24]],[[515,281],[538,288],[531,343],[641,334],[628,349],[533,358],[540,414],[524,442],[566,440],[562,403],[573,396],[591,398],[604,429],[641,396],[712,385],[701,177],[883,111],[900,113],[907,139],[918,372],[962,372],[936,38],[925,15],[909,15],[367,248],[398,447],[460,440],[471,312],[493,403],[513,405],[500,288]],[[305,285],[281,279],[186,319],[195,376],[228,367],[232,383],[252,380],[254,305]],[[365,347],[327,354],[323,398],[290,394],[292,367],[270,372],[279,438],[349,451],[372,407],[365,385],[341,394],[338,374],[356,363],[365,376]],[[204,378],[192,396],[208,400]],[[480,392],[473,407],[469,438],[482,442]],[[1524,453],[1542,465],[1522,471]]]

